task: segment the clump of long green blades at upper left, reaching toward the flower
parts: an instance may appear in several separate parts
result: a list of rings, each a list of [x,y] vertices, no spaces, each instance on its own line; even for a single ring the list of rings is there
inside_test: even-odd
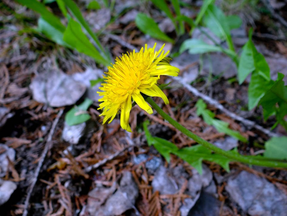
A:
[[[64,26],[59,17],[50,12],[44,4],[37,0],[16,1],[41,15],[38,19],[38,28],[36,30],[46,35],[47,38],[57,44],[91,56],[97,63],[104,66],[110,64],[111,57],[109,52],[103,48],[98,37],[84,20],[75,2],[72,0],[56,0],[60,10],[68,20],[67,26]],[[87,33],[84,33],[82,28]],[[95,45],[91,43],[87,35],[93,39]]]

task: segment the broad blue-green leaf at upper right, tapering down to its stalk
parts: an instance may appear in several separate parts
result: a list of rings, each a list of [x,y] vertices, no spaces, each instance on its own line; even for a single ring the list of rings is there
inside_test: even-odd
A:
[[[226,40],[229,49],[234,51],[229,25],[224,13],[215,5],[209,5],[203,23],[220,39]]]

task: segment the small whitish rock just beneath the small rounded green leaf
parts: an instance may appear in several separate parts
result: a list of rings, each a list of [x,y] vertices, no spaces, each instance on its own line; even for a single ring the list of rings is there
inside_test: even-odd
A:
[[[66,122],[62,132],[62,138],[68,143],[77,144],[79,143],[80,138],[84,134],[86,128],[86,122],[83,122],[78,125],[69,126]]]

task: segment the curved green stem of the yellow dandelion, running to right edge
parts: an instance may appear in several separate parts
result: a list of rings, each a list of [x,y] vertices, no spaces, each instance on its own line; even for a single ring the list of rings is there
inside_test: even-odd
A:
[[[197,143],[201,144],[202,146],[214,151],[217,154],[221,154],[224,157],[230,158],[233,161],[242,162],[245,164],[251,164],[251,165],[257,165],[257,166],[265,166],[265,167],[278,167],[278,168],[287,168],[287,163],[280,162],[280,161],[262,161],[257,160],[251,157],[244,157],[241,154],[234,154],[230,151],[222,150],[221,148],[216,147],[210,142],[207,142],[206,140],[203,140],[196,134],[192,133],[190,130],[186,129],[184,126],[179,124],[176,120],[171,118],[168,114],[166,114],[150,97],[147,97],[145,99],[155,110],[158,112],[159,115],[162,116],[162,118],[166,119],[170,124],[172,124],[176,129],[178,129],[180,132],[184,133],[186,136],[190,137]]]

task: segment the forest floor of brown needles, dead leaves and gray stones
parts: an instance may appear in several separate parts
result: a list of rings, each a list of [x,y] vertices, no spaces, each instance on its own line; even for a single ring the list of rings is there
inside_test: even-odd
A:
[[[142,9],[137,1],[115,1],[115,10],[127,9],[114,22],[110,22],[113,14],[109,9],[86,10],[85,1],[78,3],[94,31],[104,27],[100,39],[113,58],[144,44],[163,44],[136,28],[134,19],[140,10],[152,10],[162,29],[173,36],[174,30],[168,29],[170,23],[148,3]],[[283,3],[275,9],[286,11],[287,3]],[[194,5],[196,10],[200,8]],[[56,2],[49,6],[56,8]],[[170,140],[179,148],[195,142],[156,112],[149,115],[137,105],[130,114],[132,133],[121,129],[119,116],[103,125],[97,110],[99,84],[91,88],[89,80],[101,78],[105,68],[32,31],[38,15],[31,10],[9,0],[1,2],[0,7],[0,203],[5,200],[0,204],[1,216],[25,211],[28,215],[50,216],[286,214],[286,169],[232,162],[231,171],[226,172],[204,161],[203,174],[199,175],[175,155],[166,162],[154,147],[148,146],[142,129],[145,120],[150,121],[148,128],[153,136]],[[265,55],[272,78],[277,78],[278,71],[286,78],[286,34],[284,37],[276,31],[282,28],[286,33],[286,26],[272,15],[259,12],[256,16],[256,47]],[[237,49],[248,40],[249,27],[250,23],[245,22],[233,32]],[[177,51],[181,40],[177,38],[175,45],[166,43],[166,50]],[[171,82],[164,90],[169,104],[165,105],[161,98],[154,100],[193,133],[225,150],[237,147],[244,155],[261,154],[264,142],[273,134],[287,135],[281,126],[270,131],[275,119],[264,122],[260,107],[248,111],[248,81],[238,84],[236,66],[228,57],[184,52],[173,58],[171,65],[180,68],[180,79],[162,76],[159,80]],[[56,86],[59,82],[65,85]],[[184,87],[186,83],[206,95],[207,108],[248,138],[248,144],[219,133],[197,116],[195,104],[200,95]],[[43,92],[52,96],[43,97]],[[73,105],[65,102],[80,104],[86,97],[93,100],[87,110],[91,119],[68,126],[65,114]],[[234,120],[224,110],[210,105],[208,98],[267,132],[244,120]],[[56,105],[50,106],[51,103]]]

